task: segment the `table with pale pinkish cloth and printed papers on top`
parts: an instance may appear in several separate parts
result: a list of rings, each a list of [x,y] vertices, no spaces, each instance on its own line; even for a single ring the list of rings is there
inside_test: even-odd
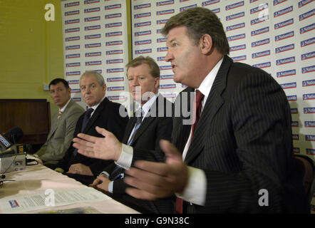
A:
[[[6,181],[0,186],[1,214],[52,213],[69,211],[68,209],[72,209],[72,214],[83,213],[81,209],[93,214],[138,214],[135,209],[41,164],[26,166],[26,170],[9,172],[5,180],[14,181]],[[58,203],[53,201],[63,197],[65,200],[62,199],[62,203],[60,200],[55,200]],[[45,205],[41,205],[41,208],[32,207],[32,204],[37,204],[38,199],[41,199],[38,204],[43,204],[45,199]],[[67,202],[67,199],[78,201]],[[21,202],[27,204],[27,209],[21,209],[24,207]]]

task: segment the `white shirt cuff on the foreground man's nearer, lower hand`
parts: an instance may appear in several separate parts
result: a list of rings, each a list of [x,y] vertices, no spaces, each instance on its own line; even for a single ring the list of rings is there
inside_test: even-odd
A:
[[[192,202],[201,206],[205,205],[207,191],[207,177],[203,170],[188,166],[188,182],[182,194],[177,197],[186,202]]]

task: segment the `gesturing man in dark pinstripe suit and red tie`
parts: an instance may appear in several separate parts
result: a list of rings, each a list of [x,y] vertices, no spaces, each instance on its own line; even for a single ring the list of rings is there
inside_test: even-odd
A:
[[[126,192],[140,199],[175,194],[188,213],[307,212],[279,84],[259,68],[233,63],[222,24],[208,9],[172,16],[162,33],[174,81],[189,86],[175,110],[190,110],[187,93],[199,90],[200,120],[192,133],[189,117],[175,116],[172,144],[160,142],[166,162],[135,162],[125,178],[134,188]],[[177,105],[183,99],[187,107]]]

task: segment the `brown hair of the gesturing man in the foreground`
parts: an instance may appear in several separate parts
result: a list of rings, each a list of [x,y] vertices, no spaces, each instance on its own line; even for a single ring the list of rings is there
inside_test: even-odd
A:
[[[210,9],[194,7],[181,11],[166,22],[162,28],[162,34],[167,36],[172,28],[179,26],[187,28],[187,35],[192,38],[195,45],[198,45],[203,35],[208,34],[212,38],[213,46],[220,53],[229,54],[229,43],[222,23]]]

